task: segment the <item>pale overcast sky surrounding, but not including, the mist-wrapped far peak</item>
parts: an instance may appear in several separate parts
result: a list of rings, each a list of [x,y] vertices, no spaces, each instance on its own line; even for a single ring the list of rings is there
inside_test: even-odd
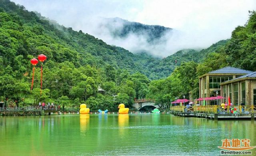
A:
[[[25,6],[29,11],[40,12],[42,16],[56,20],[61,25],[83,32],[92,33],[90,23],[95,22],[96,17],[120,17],[143,24],[174,28],[183,32],[183,37],[179,40],[180,46],[175,50],[207,48],[219,40],[230,38],[232,30],[248,20],[248,10],[256,10],[256,0],[12,1]],[[115,44],[114,41],[101,37],[108,44]],[[170,55],[174,49],[160,55]]]

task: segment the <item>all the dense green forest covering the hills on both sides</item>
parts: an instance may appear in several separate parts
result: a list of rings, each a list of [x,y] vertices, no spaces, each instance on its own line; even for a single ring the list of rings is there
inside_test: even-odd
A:
[[[236,28],[230,40],[160,59],[110,46],[81,30],[42,19],[24,6],[0,0],[0,101],[9,106],[37,105],[40,101],[63,107],[86,103],[95,111],[116,110],[119,103],[131,106],[134,98],[146,97],[164,107],[175,96],[187,96],[191,90],[197,97],[197,76],[201,74],[227,64],[255,70],[255,16],[250,12],[250,20]],[[41,63],[36,66],[30,90],[30,60],[39,54],[47,56],[42,96]],[[105,90],[103,94],[98,87]]]

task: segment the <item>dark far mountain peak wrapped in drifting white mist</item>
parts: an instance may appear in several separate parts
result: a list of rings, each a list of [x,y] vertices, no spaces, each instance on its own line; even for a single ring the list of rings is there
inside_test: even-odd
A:
[[[196,35],[191,32],[130,22],[118,17],[94,19],[84,29],[107,44],[123,47],[133,53],[147,52],[157,57],[166,57],[186,48],[204,48],[198,46],[204,42],[198,44],[194,38]]]

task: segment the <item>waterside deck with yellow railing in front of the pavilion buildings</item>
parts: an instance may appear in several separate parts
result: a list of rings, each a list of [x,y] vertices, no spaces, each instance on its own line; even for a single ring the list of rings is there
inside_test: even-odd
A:
[[[232,108],[228,106],[225,109],[217,105],[192,106],[190,108],[186,108],[185,106],[171,106],[170,113],[176,116],[209,118],[214,120],[226,120],[226,119],[254,120],[256,118],[255,106],[234,106]],[[234,111],[234,108],[236,108],[236,112],[231,111],[231,110]]]

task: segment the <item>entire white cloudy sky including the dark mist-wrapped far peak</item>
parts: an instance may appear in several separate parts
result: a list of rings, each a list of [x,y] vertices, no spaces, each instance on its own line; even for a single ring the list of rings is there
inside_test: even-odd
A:
[[[230,38],[234,28],[246,23],[248,10],[255,10],[256,6],[255,0],[122,0],[122,3],[109,0],[13,1],[63,26],[102,39],[107,44],[121,46],[134,53],[146,51],[160,57],[182,49],[200,50]],[[148,32],[137,28],[140,23],[134,26],[134,22],[129,21],[142,23],[141,28],[148,26]],[[172,30],[166,31],[161,26]],[[150,33],[154,30],[156,33]],[[154,38],[158,32],[162,33]]]

